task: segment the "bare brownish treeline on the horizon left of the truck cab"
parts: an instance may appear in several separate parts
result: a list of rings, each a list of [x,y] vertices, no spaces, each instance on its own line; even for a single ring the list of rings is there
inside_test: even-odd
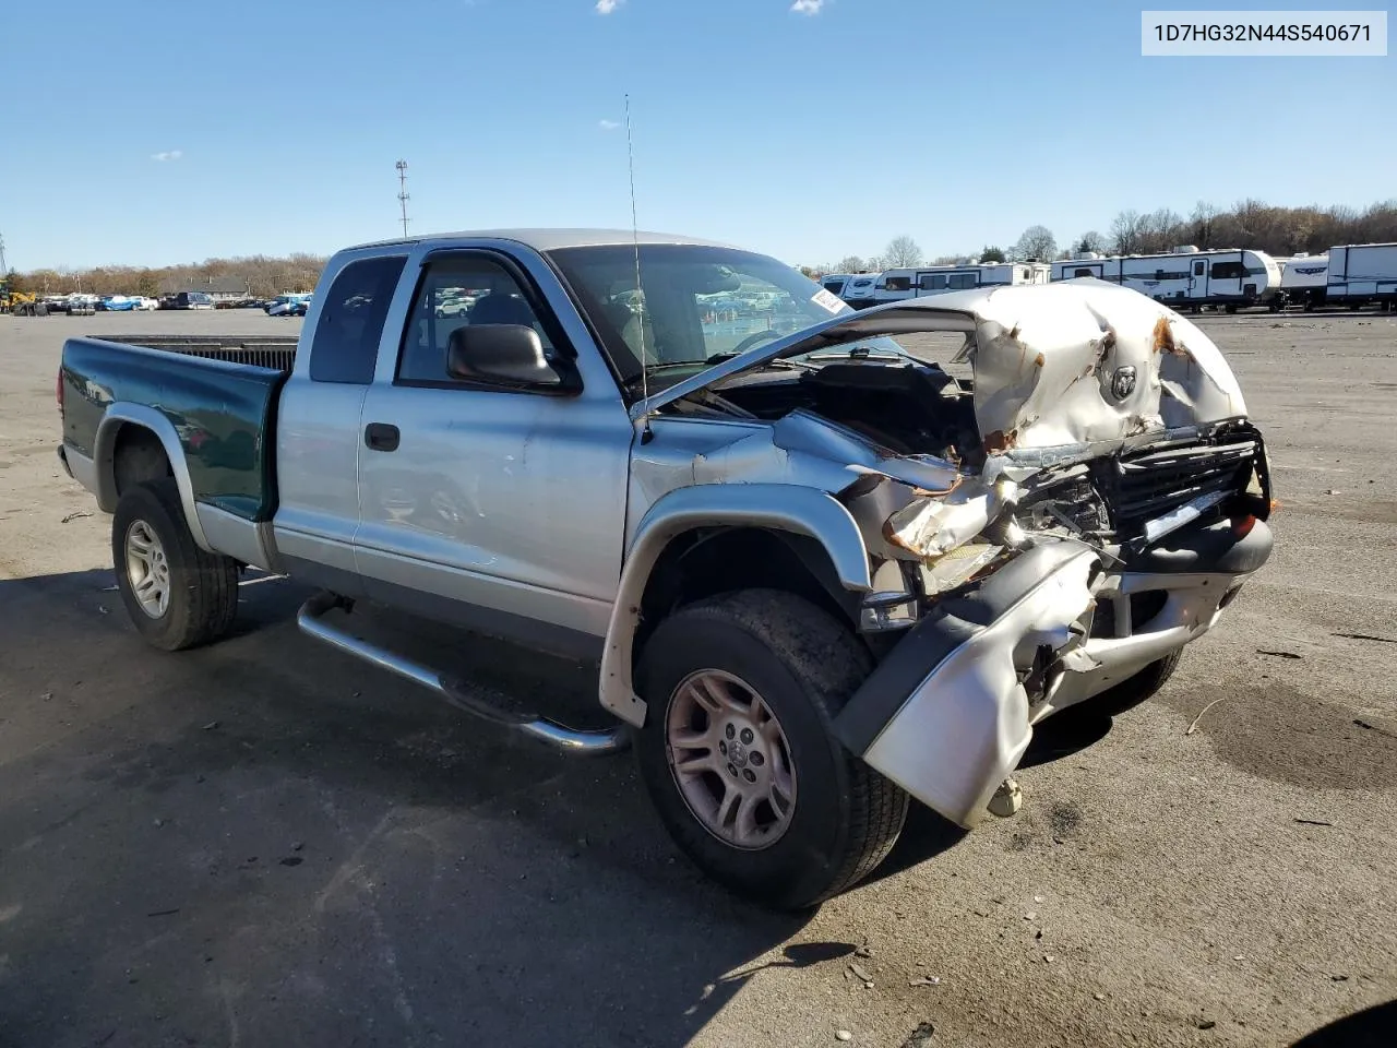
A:
[[[319,254],[292,254],[272,259],[254,254],[246,259],[208,259],[186,265],[144,268],[134,265],[98,265],[91,270],[32,270],[11,272],[15,291],[39,295],[66,295],[82,291],[91,295],[148,295],[169,291],[222,291],[271,298],[284,292],[313,291],[326,259]]]

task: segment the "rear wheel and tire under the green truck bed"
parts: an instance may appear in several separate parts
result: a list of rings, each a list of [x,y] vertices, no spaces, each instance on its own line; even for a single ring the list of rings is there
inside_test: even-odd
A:
[[[112,518],[112,563],[131,623],[163,651],[222,637],[237,615],[237,562],[194,544],[173,478],[138,483]]]

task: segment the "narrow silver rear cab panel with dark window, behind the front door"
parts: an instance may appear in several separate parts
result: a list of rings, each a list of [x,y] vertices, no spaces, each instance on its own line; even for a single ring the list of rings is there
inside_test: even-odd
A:
[[[359,595],[359,412],[405,256],[348,261],[320,296],[277,412],[277,548],[298,578]],[[306,337],[309,335],[309,338]]]

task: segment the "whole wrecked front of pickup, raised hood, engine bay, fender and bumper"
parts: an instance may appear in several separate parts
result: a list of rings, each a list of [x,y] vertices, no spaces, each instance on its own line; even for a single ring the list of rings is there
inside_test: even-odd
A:
[[[858,347],[798,377],[807,365],[791,365],[775,400],[752,379],[777,358],[923,331],[963,337],[974,380]],[[1264,442],[1235,376],[1199,327],[1133,291],[1069,281],[879,306],[712,372],[640,411],[703,394],[675,414],[739,418],[657,423],[631,504],[689,483],[837,500],[855,527],[827,552],[862,546],[869,570],[833,595],[879,665],[835,734],[963,826],[1034,724],[1200,637],[1271,551]]]

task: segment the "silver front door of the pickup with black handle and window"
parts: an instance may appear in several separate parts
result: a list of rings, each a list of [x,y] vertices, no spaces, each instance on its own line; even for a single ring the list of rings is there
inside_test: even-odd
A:
[[[566,300],[560,286],[550,293]],[[514,260],[483,249],[427,259],[401,344],[386,342],[363,404],[365,588],[496,636],[595,654],[620,578],[626,407],[606,373],[576,395],[453,379],[447,342],[467,324],[529,326],[550,359],[574,355]]]

